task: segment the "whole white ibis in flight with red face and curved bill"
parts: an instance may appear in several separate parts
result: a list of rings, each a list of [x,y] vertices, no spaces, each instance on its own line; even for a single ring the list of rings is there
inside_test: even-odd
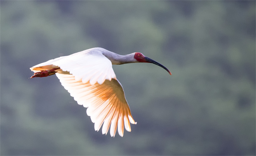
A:
[[[123,137],[124,127],[130,132],[130,122],[136,124],[125,99],[125,93],[112,65],[125,63],[154,63],[171,75],[160,63],[145,57],[142,53],[118,55],[104,48],[91,48],[69,56],[59,57],[31,67],[33,77],[54,75],[60,79],[62,86],[74,97],[79,105],[87,108],[94,129],[114,137],[116,130]],[[106,81],[107,80],[107,81]]]

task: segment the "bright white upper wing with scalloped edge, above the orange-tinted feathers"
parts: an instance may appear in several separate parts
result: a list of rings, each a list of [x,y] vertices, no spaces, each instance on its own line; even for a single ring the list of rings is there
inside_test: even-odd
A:
[[[84,83],[90,81],[92,85],[96,82],[102,84],[105,80],[116,79],[111,61],[101,53],[93,53],[93,55],[76,53],[76,55],[69,55],[52,62],[52,64],[74,75],[76,80],[82,79]]]

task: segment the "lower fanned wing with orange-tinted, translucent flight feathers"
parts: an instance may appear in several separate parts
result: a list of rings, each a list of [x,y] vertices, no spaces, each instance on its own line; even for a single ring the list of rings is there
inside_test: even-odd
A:
[[[107,134],[110,128],[110,135],[115,136],[116,129],[123,137],[124,127],[131,131],[130,122],[136,124],[131,116],[131,111],[125,99],[123,87],[117,79],[105,81],[102,84],[83,82],[77,80],[73,74],[56,73],[62,86],[71,96],[87,108],[87,115],[95,123],[95,130],[99,131],[102,126],[102,134]]]

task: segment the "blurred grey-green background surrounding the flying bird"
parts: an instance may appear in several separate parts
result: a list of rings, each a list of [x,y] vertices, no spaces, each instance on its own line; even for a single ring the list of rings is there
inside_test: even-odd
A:
[[[255,155],[255,1],[0,2],[1,155]],[[38,63],[102,47],[137,125],[94,131]]]

